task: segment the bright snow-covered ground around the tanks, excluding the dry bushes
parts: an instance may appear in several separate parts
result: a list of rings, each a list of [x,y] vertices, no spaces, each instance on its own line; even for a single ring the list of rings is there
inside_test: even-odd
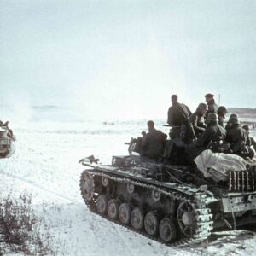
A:
[[[156,123],[157,128],[168,132]],[[247,230],[214,233],[209,243],[166,247],[91,213],[79,191],[84,170],[78,160],[94,154],[110,163],[113,154],[127,154],[124,142],[146,130],[145,122],[53,123],[13,126],[15,154],[0,160],[0,191],[14,195],[26,189],[38,215],[49,221],[49,232],[67,255],[248,255],[254,253],[256,233]],[[254,137],[256,133],[254,131]]]

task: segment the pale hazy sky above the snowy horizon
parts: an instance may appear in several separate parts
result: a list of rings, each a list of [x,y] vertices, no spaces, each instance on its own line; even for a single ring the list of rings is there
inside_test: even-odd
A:
[[[256,1],[0,0],[0,92],[113,118],[166,118],[172,94],[256,108]]]

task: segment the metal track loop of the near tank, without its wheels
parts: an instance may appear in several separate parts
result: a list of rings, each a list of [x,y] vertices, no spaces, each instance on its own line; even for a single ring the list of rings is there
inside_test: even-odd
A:
[[[162,241],[160,237],[155,237],[155,236],[149,236],[145,230],[135,230],[131,227],[131,225],[125,225],[119,222],[119,220],[114,220],[113,218],[109,218],[108,214],[102,215],[96,211],[96,195],[93,196],[93,198],[89,201],[87,200],[84,195],[83,195],[83,189],[82,189],[82,182],[83,182],[83,176],[85,173],[89,173],[92,177],[95,176],[100,176],[100,177],[108,177],[109,179],[119,182],[119,183],[133,183],[136,186],[143,187],[145,189],[156,189],[160,193],[164,195],[170,196],[173,200],[178,200],[178,201],[186,201],[189,202],[194,207],[194,212],[195,212],[195,218],[197,221],[196,224],[196,229],[194,232],[193,236],[190,237],[183,237],[178,239],[177,241],[169,242],[166,243],[165,241]],[[147,183],[142,183],[142,182],[137,182],[134,181],[130,178],[123,178],[123,177],[115,177],[110,174],[106,174],[104,172],[95,172],[95,170],[85,170],[82,172],[81,177],[80,177],[80,191],[81,195],[84,199],[85,205],[90,209],[90,212],[94,212],[97,215],[101,216],[102,218],[108,219],[108,221],[111,221],[115,224],[119,224],[123,227],[125,227],[128,230],[131,230],[133,232],[137,232],[138,234],[142,236],[146,236],[151,240],[158,241],[161,244],[164,244],[166,246],[170,247],[177,247],[177,246],[188,246],[188,245],[193,245],[200,243],[201,241],[206,241],[208,236],[211,235],[211,230],[213,229],[213,220],[212,220],[212,214],[211,210],[209,207],[207,207],[207,202],[212,201],[212,196],[207,195],[206,193],[203,192],[197,192],[193,195],[185,195],[179,191],[167,191],[166,189],[163,188],[158,188],[154,185],[147,184]]]

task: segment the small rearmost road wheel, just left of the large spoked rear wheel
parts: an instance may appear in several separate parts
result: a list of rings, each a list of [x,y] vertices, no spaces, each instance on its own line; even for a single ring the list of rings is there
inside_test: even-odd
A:
[[[177,229],[172,219],[163,218],[159,225],[159,234],[162,241],[175,241],[177,238]]]

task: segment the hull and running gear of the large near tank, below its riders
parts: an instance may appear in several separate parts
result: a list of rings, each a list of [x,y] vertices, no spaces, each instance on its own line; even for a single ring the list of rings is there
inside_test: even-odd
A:
[[[228,172],[214,183],[195,166],[171,165],[137,155],[113,156],[98,165],[93,155],[80,190],[91,212],[167,245],[207,240],[212,230],[256,223],[256,168]]]

